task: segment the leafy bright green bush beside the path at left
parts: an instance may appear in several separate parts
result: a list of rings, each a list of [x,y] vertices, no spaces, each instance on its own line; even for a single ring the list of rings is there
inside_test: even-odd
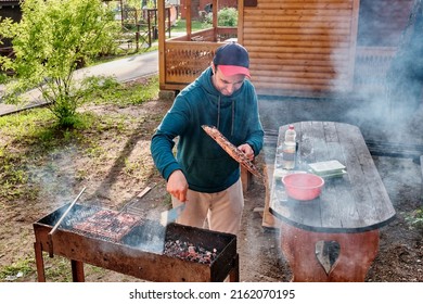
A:
[[[100,0],[25,0],[20,23],[4,20],[0,35],[12,38],[15,73],[8,97],[37,87],[63,127],[77,117],[79,93],[73,73],[113,45],[119,27]]]

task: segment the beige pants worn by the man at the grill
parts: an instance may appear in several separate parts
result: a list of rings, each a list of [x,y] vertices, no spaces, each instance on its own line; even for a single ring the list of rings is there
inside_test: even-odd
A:
[[[187,206],[177,223],[238,235],[244,208],[244,194],[241,178],[228,189],[216,193],[203,193],[188,190]],[[174,207],[182,204],[171,198]]]

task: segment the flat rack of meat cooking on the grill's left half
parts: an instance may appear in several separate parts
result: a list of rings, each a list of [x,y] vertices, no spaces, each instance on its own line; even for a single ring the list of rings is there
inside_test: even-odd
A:
[[[85,220],[74,224],[73,228],[93,237],[102,237],[118,242],[140,220],[141,218],[128,213],[101,210]]]

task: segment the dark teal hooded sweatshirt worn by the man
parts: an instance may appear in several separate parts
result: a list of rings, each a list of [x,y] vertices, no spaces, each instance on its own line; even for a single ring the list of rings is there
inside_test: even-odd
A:
[[[221,94],[211,83],[211,67],[184,88],[175,99],[154,134],[151,153],[167,180],[181,169],[190,189],[214,193],[240,178],[240,164],[202,128],[215,126],[235,147],[248,143],[255,155],[262,148],[264,130],[257,96],[248,79],[232,96]],[[179,136],[176,157],[174,139]]]

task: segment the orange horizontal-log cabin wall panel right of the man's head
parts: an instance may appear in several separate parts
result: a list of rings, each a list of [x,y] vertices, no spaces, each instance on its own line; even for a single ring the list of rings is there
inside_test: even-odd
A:
[[[259,93],[352,88],[359,0],[245,0],[243,43]]]

